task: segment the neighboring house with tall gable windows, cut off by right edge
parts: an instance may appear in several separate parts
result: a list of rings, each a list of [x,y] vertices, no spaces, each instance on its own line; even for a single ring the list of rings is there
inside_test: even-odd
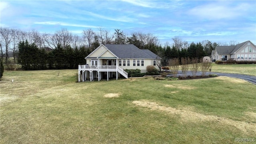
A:
[[[256,60],[256,46],[250,41],[242,42],[235,46],[216,46],[212,52],[212,62],[217,60],[226,61],[233,58],[239,60]]]

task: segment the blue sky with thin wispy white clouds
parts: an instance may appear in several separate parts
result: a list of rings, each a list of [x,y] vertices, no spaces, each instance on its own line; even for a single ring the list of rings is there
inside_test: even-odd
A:
[[[150,33],[160,44],[250,40],[256,44],[256,0],[0,0],[0,26],[54,33],[120,29]]]

